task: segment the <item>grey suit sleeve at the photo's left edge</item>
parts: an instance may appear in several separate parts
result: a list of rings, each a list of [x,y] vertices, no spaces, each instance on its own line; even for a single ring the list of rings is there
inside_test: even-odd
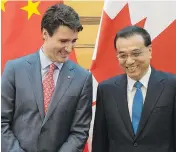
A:
[[[15,110],[15,76],[10,62],[1,78],[1,149],[3,152],[24,152],[16,139],[11,125]]]

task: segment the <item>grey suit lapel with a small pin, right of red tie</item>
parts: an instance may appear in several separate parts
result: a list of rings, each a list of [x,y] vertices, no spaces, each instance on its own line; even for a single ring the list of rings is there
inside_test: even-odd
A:
[[[74,64],[71,61],[67,61],[64,63],[59,78],[57,80],[56,88],[51,99],[51,104],[49,105],[48,112],[46,113],[45,119],[43,121],[43,125],[49,119],[53,111],[55,110],[57,104],[64,96],[66,90],[68,89],[69,85],[71,84],[74,78]]]

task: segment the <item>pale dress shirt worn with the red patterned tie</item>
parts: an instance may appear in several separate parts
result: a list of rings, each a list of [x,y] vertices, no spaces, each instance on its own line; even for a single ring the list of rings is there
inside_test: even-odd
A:
[[[50,64],[52,64],[53,62],[43,53],[42,48],[40,49],[40,63],[41,63],[41,75],[42,75],[42,81],[44,80],[48,70],[49,70],[49,66]],[[56,69],[54,70],[54,84],[56,86],[56,82],[60,73],[60,70],[63,66],[63,63],[57,63],[54,62],[54,64],[56,65]]]

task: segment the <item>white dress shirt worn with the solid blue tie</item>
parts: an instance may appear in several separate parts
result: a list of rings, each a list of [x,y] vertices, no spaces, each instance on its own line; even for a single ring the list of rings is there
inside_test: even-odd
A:
[[[151,67],[149,66],[147,73],[139,80],[143,84],[141,87],[142,95],[143,95],[143,103],[145,101],[147,88],[148,88],[148,82],[151,75]],[[128,109],[130,118],[132,120],[132,106],[133,106],[133,98],[136,93],[136,88],[134,87],[134,84],[136,83],[136,80],[131,79],[129,76],[127,76],[127,100],[128,100]]]

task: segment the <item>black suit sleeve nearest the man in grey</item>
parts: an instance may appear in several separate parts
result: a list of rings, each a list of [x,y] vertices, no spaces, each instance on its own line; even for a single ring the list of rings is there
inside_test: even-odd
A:
[[[92,152],[108,152],[108,131],[102,102],[101,88],[97,89],[96,112],[93,128]]]

